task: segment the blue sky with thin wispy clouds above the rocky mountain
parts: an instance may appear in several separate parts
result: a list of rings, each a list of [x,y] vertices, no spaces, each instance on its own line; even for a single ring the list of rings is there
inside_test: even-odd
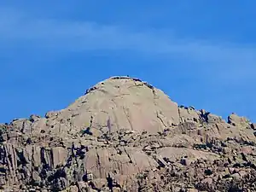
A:
[[[0,122],[130,75],[178,104],[256,121],[256,2],[0,2]]]

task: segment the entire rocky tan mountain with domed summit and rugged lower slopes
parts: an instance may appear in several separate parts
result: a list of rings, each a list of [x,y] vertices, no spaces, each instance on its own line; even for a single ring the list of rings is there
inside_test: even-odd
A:
[[[114,77],[44,118],[0,125],[3,191],[255,191],[256,125]],[[250,190],[249,190],[250,189]]]

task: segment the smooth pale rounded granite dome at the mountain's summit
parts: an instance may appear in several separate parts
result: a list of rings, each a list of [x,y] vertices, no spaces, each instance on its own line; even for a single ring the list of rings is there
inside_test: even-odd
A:
[[[177,103],[161,90],[125,77],[96,84],[58,116],[71,117],[79,129],[90,126],[97,135],[119,129],[156,133],[179,122]]]

